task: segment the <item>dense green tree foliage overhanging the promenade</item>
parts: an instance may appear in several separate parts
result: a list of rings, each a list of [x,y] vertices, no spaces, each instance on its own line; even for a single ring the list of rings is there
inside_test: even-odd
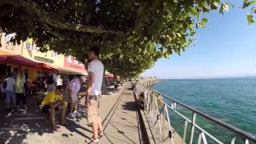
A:
[[[255,1],[244,0],[243,9]],[[42,51],[83,59],[90,46],[102,48],[106,69],[136,76],[158,58],[180,54],[192,42],[202,13],[233,6],[221,0],[1,0],[0,28],[11,42],[34,38]],[[251,8],[247,21],[254,22]]]

